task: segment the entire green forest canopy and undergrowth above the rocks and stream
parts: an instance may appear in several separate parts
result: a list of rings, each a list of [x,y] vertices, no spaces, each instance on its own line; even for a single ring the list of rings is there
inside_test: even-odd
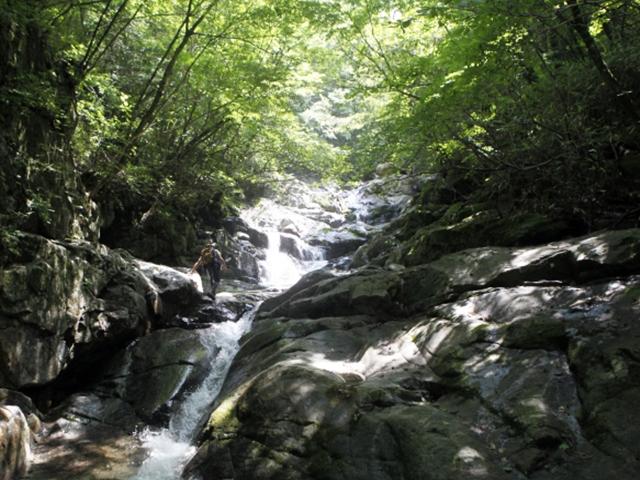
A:
[[[383,162],[586,228],[638,215],[635,0],[2,0],[0,23],[0,214],[22,227],[57,209],[34,179],[77,193],[61,170],[118,234]],[[16,145],[34,112],[49,151]]]

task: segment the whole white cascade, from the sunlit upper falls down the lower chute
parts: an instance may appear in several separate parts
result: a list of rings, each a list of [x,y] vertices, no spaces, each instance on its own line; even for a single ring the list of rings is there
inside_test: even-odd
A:
[[[293,198],[285,198],[280,199],[282,204],[266,201],[266,205],[258,205],[243,213],[244,221],[249,227],[263,232],[268,239],[265,258],[258,262],[259,284],[265,289],[265,297],[273,297],[286,291],[296,284],[303,274],[327,265],[325,256],[331,248],[321,245],[317,239],[323,235],[335,234],[335,230],[332,228],[329,231],[320,231],[318,225],[329,221],[334,222],[333,225],[336,227],[348,226],[356,231],[366,232],[371,228],[367,220],[372,218],[372,211],[389,205],[367,192],[365,188],[367,186],[364,184],[350,191],[331,192],[330,198],[337,199],[336,210],[342,209],[344,214],[330,214],[324,208],[314,208],[313,205],[318,202],[318,197],[327,195],[325,191],[314,189],[304,191],[308,195],[308,200],[302,205],[297,204]],[[391,199],[396,213],[407,203],[407,200],[408,197],[404,195]],[[291,204],[288,205],[288,203]],[[350,220],[346,218],[347,214],[351,216]],[[348,230],[345,231],[347,235],[352,235]],[[311,241],[316,245],[310,245],[307,239],[312,239]],[[353,243],[353,239],[347,236],[348,246],[337,251],[341,255],[352,253],[349,250],[353,249],[357,243],[360,242]],[[224,322],[202,331],[201,334],[206,339],[204,343],[208,346],[212,358],[211,371],[200,387],[186,398],[173,415],[167,428],[161,430],[147,428],[142,432],[140,439],[149,453],[139,472],[132,477],[133,479],[173,480],[180,477],[184,464],[196,452],[193,446],[195,436],[208,418],[208,412],[215,403],[231,363],[240,348],[239,341],[245,333],[250,331],[261,303],[254,305],[237,323]],[[216,352],[217,349],[219,352]]]

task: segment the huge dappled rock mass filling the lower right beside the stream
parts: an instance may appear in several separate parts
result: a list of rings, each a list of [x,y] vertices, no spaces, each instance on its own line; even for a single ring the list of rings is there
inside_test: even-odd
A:
[[[309,275],[265,302],[185,471],[632,480],[640,230]]]

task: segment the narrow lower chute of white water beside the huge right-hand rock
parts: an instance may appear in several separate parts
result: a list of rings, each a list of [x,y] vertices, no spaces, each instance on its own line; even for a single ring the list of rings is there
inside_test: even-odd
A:
[[[213,400],[220,393],[231,361],[239,349],[239,340],[251,327],[257,306],[237,322],[215,324],[201,331],[210,351],[211,370],[204,382],[191,393],[173,415],[168,428],[147,428],[140,434],[149,456],[133,480],[176,480],[184,464],[195,453],[192,445],[198,426]],[[216,354],[216,350],[220,349]]]

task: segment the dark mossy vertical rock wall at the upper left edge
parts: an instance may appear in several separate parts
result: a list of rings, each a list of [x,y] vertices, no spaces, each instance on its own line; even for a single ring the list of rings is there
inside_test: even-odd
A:
[[[55,57],[35,19],[37,3],[0,13],[0,218],[4,227],[49,238],[97,240],[95,205],[69,145],[73,67]]]

